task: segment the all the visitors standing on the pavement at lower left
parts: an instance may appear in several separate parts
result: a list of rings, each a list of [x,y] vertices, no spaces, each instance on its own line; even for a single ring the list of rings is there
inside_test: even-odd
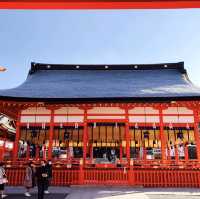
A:
[[[24,187],[26,189],[24,195],[30,197],[30,190],[37,186],[38,199],[43,199],[44,194],[49,194],[49,185],[52,179],[52,163],[51,160],[40,162],[40,165],[35,165],[33,162],[29,162],[26,165]],[[8,182],[4,164],[0,163],[0,193],[1,198],[5,198],[4,186]]]

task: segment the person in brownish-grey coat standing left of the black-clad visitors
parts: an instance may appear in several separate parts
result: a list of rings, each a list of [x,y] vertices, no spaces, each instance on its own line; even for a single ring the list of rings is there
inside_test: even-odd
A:
[[[33,171],[33,165],[32,162],[29,162],[26,166],[26,173],[24,178],[24,186],[26,188],[26,192],[24,195],[26,197],[30,197],[30,189],[34,187],[34,171]]]

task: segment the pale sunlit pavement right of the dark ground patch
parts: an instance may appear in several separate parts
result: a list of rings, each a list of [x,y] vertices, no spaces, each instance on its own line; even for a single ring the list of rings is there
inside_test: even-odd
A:
[[[200,199],[192,188],[71,187],[67,199]]]

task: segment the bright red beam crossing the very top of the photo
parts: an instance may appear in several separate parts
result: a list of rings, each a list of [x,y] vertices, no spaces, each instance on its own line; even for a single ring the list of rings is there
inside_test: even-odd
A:
[[[199,0],[9,0],[0,9],[177,9],[200,8]]]

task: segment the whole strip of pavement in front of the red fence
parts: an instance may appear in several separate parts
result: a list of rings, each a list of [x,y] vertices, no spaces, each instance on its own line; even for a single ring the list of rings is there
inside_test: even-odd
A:
[[[8,199],[23,199],[23,187],[7,187]],[[32,190],[30,199],[37,199]],[[50,195],[44,199],[199,199],[197,188],[139,188],[110,186],[50,187]]]

